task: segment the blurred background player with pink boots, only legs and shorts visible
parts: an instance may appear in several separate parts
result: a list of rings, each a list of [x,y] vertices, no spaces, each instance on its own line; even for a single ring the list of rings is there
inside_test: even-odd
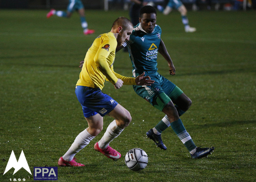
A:
[[[88,24],[85,19],[85,9],[84,5],[81,2],[81,0],[69,0],[69,4],[67,7],[67,12],[65,11],[56,11],[55,9],[52,9],[49,13],[47,13],[46,17],[50,18],[53,15],[57,15],[59,17],[65,17],[69,18],[71,17],[72,13],[77,10],[77,12],[80,15],[80,21],[83,28],[84,35],[92,34],[95,31],[88,29]]]

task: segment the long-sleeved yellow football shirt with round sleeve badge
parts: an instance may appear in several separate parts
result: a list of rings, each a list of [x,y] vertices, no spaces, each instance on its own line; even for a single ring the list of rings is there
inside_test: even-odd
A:
[[[115,84],[121,79],[124,85],[136,85],[135,78],[119,75],[113,70],[117,41],[112,32],[98,36],[88,49],[77,86],[104,87],[105,80]]]

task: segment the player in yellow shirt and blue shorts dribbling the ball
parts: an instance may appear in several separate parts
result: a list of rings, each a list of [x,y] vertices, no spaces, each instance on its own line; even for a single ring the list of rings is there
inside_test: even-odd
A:
[[[124,107],[101,90],[105,80],[110,81],[116,89],[122,85],[151,85],[149,76],[143,74],[136,78],[119,75],[113,70],[116,46],[121,46],[133,30],[133,24],[125,17],[119,17],[110,32],[98,36],[88,49],[84,64],[76,84],[76,96],[82,105],[88,128],[75,139],[68,151],[59,159],[59,166],[84,166],[77,163],[75,154],[83,149],[103,129],[103,116],[109,115],[114,120],[109,124],[105,134],[95,143],[94,149],[113,160],[121,154],[112,149],[109,143],[116,138],[131,122],[131,115]]]

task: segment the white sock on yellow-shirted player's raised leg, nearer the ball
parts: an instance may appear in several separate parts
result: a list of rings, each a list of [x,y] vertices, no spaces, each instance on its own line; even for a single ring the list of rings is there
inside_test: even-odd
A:
[[[104,133],[103,137],[100,139],[100,141],[98,142],[99,147],[101,149],[105,149],[107,148],[107,146],[109,146],[109,143],[114,140],[114,138],[116,138],[118,135],[120,135],[120,133],[123,131],[124,129],[121,129],[117,126],[116,124],[116,120],[112,121],[109,125],[108,128],[106,130],[106,132]]]

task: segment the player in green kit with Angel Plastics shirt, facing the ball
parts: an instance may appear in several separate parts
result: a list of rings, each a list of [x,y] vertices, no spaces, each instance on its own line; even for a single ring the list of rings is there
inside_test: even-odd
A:
[[[191,100],[180,88],[157,72],[159,52],[168,62],[170,74],[175,75],[175,67],[161,39],[162,30],[160,26],[156,25],[155,8],[152,6],[142,7],[139,22],[134,27],[130,40],[118,47],[116,52],[127,46],[132,61],[133,76],[136,77],[145,72],[145,76],[150,76],[155,81],[151,86],[133,86],[134,91],[139,96],[166,114],[146,135],[158,147],[166,150],[161,133],[171,126],[192,158],[206,157],[211,154],[214,147],[197,147],[180,119],[180,116],[191,106]]]

